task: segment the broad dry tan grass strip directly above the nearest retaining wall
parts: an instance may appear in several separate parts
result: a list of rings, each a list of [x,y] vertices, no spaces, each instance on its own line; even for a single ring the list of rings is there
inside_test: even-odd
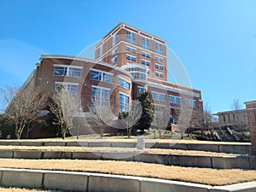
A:
[[[190,183],[225,185],[256,180],[256,171],[216,170],[163,166],[141,162],[114,160],[13,160],[0,159],[0,167],[76,172],[100,172],[117,175],[155,177]]]

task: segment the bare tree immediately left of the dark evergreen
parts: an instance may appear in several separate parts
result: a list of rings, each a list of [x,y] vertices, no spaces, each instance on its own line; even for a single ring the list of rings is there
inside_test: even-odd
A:
[[[132,101],[128,112],[119,113],[119,119],[127,130],[128,138],[131,137],[132,126],[142,117],[143,108],[140,102]]]

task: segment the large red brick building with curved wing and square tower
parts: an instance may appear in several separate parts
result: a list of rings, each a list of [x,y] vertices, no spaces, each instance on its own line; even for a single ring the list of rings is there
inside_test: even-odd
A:
[[[202,113],[201,90],[167,82],[166,41],[125,23],[119,23],[96,45],[95,59],[42,55],[26,84],[51,94],[59,84],[79,96],[82,111],[91,101],[109,101],[115,116],[127,111],[139,92],[148,90],[155,106],[166,108],[172,123],[183,103]],[[175,69],[173,69],[175,70]],[[81,125],[83,126],[83,125]],[[83,133],[88,133],[84,127]],[[81,132],[82,133],[82,132]]]

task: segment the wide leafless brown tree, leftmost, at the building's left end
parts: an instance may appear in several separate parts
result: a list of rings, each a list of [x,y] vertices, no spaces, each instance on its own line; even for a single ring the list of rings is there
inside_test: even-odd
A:
[[[45,107],[47,97],[32,87],[6,86],[0,93],[3,116],[15,124],[15,136],[20,139],[25,126],[38,119],[38,112]]]

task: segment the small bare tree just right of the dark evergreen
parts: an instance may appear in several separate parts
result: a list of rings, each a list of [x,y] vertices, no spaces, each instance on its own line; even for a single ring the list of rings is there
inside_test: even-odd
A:
[[[166,111],[166,107],[154,106],[154,119],[152,121],[154,127],[154,138],[155,130],[159,132],[159,137],[162,137],[162,131],[166,129],[170,120],[169,112]]]

